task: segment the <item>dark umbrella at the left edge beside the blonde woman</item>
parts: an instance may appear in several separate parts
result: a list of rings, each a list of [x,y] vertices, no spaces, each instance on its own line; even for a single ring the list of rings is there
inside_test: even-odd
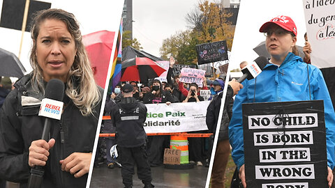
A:
[[[12,52],[0,48],[0,76],[2,77],[23,77],[24,69],[19,58]]]

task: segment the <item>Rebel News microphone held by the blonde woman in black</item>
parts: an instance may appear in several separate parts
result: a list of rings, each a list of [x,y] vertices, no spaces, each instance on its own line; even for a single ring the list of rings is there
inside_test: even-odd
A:
[[[59,79],[50,79],[45,87],[45,98],[40,104],[38,116],[45,117],[43,126],[42,139],[48,141],[52,119],[61,119],[63,110],[64,83]],[[43,182],[43,166],[34,166],[31,168],[28,188],[39,188]]]

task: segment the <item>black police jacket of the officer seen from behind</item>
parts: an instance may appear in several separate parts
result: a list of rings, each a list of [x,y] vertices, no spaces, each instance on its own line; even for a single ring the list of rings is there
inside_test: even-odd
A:
[[[134,97],[124,97],[110,113],[112,124],[117,127],[117,145],[125,148],[142,146],[147,139],[143,123],[147,107]]]

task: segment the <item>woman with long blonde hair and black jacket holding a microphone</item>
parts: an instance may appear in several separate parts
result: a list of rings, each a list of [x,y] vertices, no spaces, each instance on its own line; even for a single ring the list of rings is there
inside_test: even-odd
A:
[[[103,89],[94,81],[72,13],[41,10],[31,24],[31,38],[33,71],[15,83],[0,110],[0,177],[27,187],[31,169],[43,166],[42,187],[85,187]],[[45,105],[55,112],[51,115],[61,115],[48,123],[45,141],[40,138],[46,121],[38,112],[46,85],[57,79],[65,90],[53,93],[64,93],[57,101],[64,105]]]

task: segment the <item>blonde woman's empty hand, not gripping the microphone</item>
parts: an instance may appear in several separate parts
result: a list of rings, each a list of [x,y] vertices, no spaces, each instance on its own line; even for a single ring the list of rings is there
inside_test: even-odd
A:
[[[89,172],[92,153],[89,152],[73,152],[64,160],[60,160],[61,170],[75,175],[79,178]]]

